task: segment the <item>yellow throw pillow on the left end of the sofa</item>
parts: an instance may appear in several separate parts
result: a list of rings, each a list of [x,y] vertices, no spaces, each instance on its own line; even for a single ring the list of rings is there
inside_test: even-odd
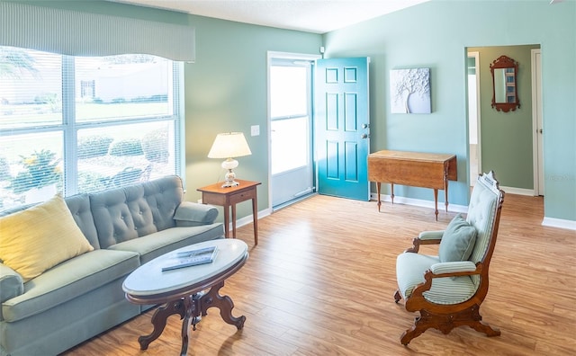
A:
[[[0,260],[24,281],[92,250],[59,194],[0,218]]]

